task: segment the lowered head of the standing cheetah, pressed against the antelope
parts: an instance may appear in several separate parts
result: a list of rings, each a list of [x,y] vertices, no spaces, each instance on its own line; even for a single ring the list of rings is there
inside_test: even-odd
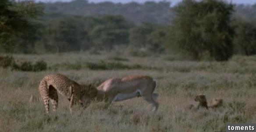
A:
[[[79,102],[83,105],[89,104],[93,98],[96,97],[98,90],[96,87],[94,87],[91,83],[82,85],[82,91],[81,91],[82,97],[80,98]]]

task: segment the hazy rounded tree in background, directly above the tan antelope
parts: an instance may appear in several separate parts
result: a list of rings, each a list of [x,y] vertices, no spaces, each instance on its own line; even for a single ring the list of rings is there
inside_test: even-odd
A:
[[[96,25],[90,36],[97,49],[111,50],[114,45],[129,44],[129,29],[132,24],[124,17],[106,15],[102,22]]]

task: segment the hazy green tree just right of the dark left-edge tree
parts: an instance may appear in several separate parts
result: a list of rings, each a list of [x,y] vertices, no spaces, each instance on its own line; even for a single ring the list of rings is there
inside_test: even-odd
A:
[[[51,52],[85,51],[90,38],[83,17],[63,17],[50,21],[45,31],[46,50]]]

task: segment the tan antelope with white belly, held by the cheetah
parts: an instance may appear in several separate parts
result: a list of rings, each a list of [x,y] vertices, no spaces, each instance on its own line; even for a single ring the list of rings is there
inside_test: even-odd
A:
[[[153,94],[156,88],[156,81],[149,76],[132,75],[124,78],[111,78],[104,81],[99,87],[97,98],[105,99],[108,102],[123,101],[129,98],[140,97],[158,109],[158,103],[154,100],[157,94]]]

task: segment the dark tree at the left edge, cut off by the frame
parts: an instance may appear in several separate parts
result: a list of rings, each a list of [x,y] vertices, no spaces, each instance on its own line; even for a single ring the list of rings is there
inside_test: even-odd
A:
[[[0,3],[0,51],[31,52],[36,40],[36,18],[43,7],[33,1],[18,3],[2,0]]]

